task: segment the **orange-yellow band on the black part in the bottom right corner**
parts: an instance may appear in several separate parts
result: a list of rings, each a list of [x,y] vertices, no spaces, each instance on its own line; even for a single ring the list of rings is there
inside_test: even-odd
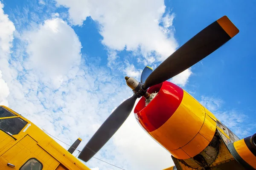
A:
[[[246,146],[244,139],[234,142],[236,152],[246,161],[250,166],[256,169],[256,156]]]

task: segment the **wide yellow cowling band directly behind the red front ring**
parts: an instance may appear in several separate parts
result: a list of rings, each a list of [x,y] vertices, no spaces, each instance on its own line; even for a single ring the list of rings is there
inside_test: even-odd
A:
[[[150,134],[169,151],[176,150],[198,134],[204,119],[204,107],[184,91],[183,100],[175,113],[165,124]]]

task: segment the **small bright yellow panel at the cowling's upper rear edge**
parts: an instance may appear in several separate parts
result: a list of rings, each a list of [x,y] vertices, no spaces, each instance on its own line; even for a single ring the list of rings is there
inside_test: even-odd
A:
[[[207,114],[205,115],[204,125],[202,126],[199,133],[204,136],[209,142],[212,141],[212,138],[215,134],[216,122],[210,118]]]

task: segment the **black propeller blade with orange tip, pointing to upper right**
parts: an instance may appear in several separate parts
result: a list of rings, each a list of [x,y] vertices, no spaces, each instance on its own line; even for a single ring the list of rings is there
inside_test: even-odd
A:
[[[221,17],[210,24],[170,57],[163,61],[146,79],[143,89],[164,82],[207,57],[239,33],[238,28],[228,19]]]

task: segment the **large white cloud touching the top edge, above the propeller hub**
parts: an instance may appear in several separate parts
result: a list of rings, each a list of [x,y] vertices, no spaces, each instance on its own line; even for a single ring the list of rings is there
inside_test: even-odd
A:
[[[177,48],[170,31],[166,35],[159,24],[166,6],[163,0],[56,0],[58,5],[69,8],[70,20],[82,25],[87,17],[100,24],[102,43],[110,49],[137,51],[140,48],[147,58],[152,51],[157,60],[163,61]],[[174,15],[163,19],[165,28],[172,26]]]

